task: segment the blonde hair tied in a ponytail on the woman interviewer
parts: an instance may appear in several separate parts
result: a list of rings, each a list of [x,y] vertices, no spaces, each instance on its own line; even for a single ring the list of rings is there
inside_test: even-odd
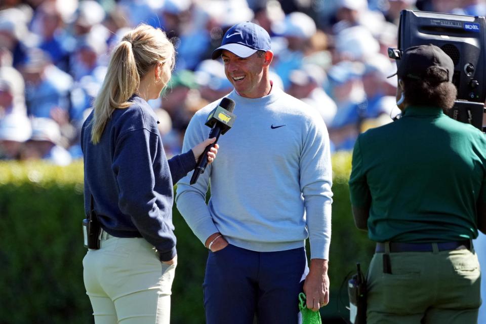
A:
[[[174,63],[175,51],[166,34],[149,25],[128,32],[114,49],[108,70],[94,102],[91,141],[99,143],[106,122],[114,109],[128,108],[128,99],[136,93],[140,79],[157,63]]]

